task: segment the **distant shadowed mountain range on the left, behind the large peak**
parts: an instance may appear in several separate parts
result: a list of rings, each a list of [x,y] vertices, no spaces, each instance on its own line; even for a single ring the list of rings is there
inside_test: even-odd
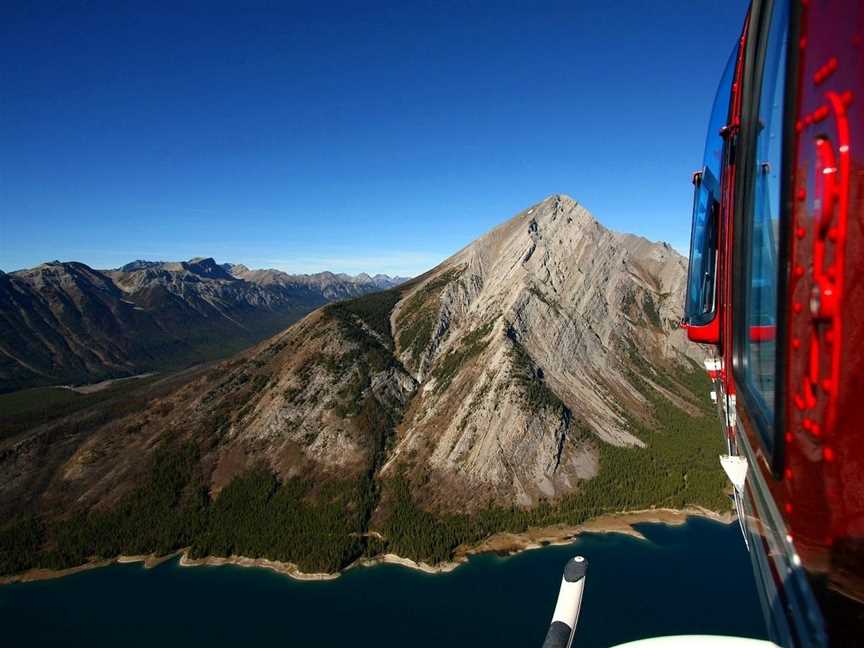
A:
[[[189,261],[0,272],[0,392],[79,384],[224,357],[328,302],[405,279],[289,275]]]

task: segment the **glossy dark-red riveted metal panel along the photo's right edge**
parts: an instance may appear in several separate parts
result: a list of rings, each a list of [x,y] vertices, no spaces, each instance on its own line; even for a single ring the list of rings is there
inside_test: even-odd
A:
[[[807,2],[799,45],[785,388],[787,525],[805,567],[864,599],[864,11]]]

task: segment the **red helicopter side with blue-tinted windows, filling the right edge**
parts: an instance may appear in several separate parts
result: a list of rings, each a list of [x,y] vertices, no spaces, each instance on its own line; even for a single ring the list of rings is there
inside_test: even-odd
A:
[[[694,184],[684,325],[747,462],[769,632],[864,642],[862,3],[754,0]]]

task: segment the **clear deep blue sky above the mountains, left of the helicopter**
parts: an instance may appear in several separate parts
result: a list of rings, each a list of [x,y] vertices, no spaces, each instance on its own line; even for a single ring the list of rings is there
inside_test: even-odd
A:
[[[552,193],[684,249],[746,11],[0,4],[0,268],[213,256],[403,275]]]

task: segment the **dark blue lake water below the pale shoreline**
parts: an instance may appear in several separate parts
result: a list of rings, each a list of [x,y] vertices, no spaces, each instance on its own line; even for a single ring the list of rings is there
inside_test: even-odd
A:
[[[539,648],[563,565],[577,553],[591,563],[580,648],[658,634],[764,637],[737,525],[639,530],[648,542],[589,534],[437,575],[383,565],[297,582],[240,567],[119,565],[0,587],[0,643]]]

